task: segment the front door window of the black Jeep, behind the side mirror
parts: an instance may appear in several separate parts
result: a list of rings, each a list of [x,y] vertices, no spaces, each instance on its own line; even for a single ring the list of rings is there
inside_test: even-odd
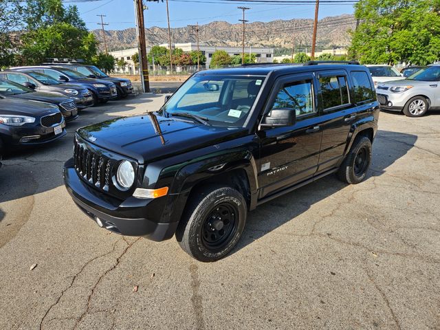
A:
[[[287,83],[276,94],[272,109],[288,108],[296,111],[296,116],[316,112],[314,109],[314,92],[311,80],[300,80]]]

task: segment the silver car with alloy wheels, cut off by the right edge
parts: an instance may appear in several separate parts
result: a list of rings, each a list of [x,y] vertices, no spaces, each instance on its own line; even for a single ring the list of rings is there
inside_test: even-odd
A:
[[[423,67],[405,80],[380,83],[376,91],[381,109],[421,117],[428,109],[440,109],[440,65]]]

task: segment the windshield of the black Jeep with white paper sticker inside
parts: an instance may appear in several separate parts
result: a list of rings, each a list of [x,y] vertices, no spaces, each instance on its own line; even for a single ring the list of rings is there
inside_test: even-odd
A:
[[[264,79],[263,76],[193,76],[159,113],[166,117],[182,114],[185,120],[197,116],[214,126],[241,127]]]

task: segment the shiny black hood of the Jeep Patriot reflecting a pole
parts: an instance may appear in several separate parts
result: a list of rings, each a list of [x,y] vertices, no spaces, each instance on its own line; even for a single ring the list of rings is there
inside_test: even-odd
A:
[[[85,140],[144,164],[247,134],[243,128],[195,124],[154,113],[115,118],[78,129]]]

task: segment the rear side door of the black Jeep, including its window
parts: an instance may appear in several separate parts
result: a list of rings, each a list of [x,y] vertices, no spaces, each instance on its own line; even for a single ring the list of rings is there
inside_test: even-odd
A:
[[[342,159],[357,113],[351,104],[349,78],[345,70],[317,72],[316,76],[322,130],[319,174],[337,166]]]

